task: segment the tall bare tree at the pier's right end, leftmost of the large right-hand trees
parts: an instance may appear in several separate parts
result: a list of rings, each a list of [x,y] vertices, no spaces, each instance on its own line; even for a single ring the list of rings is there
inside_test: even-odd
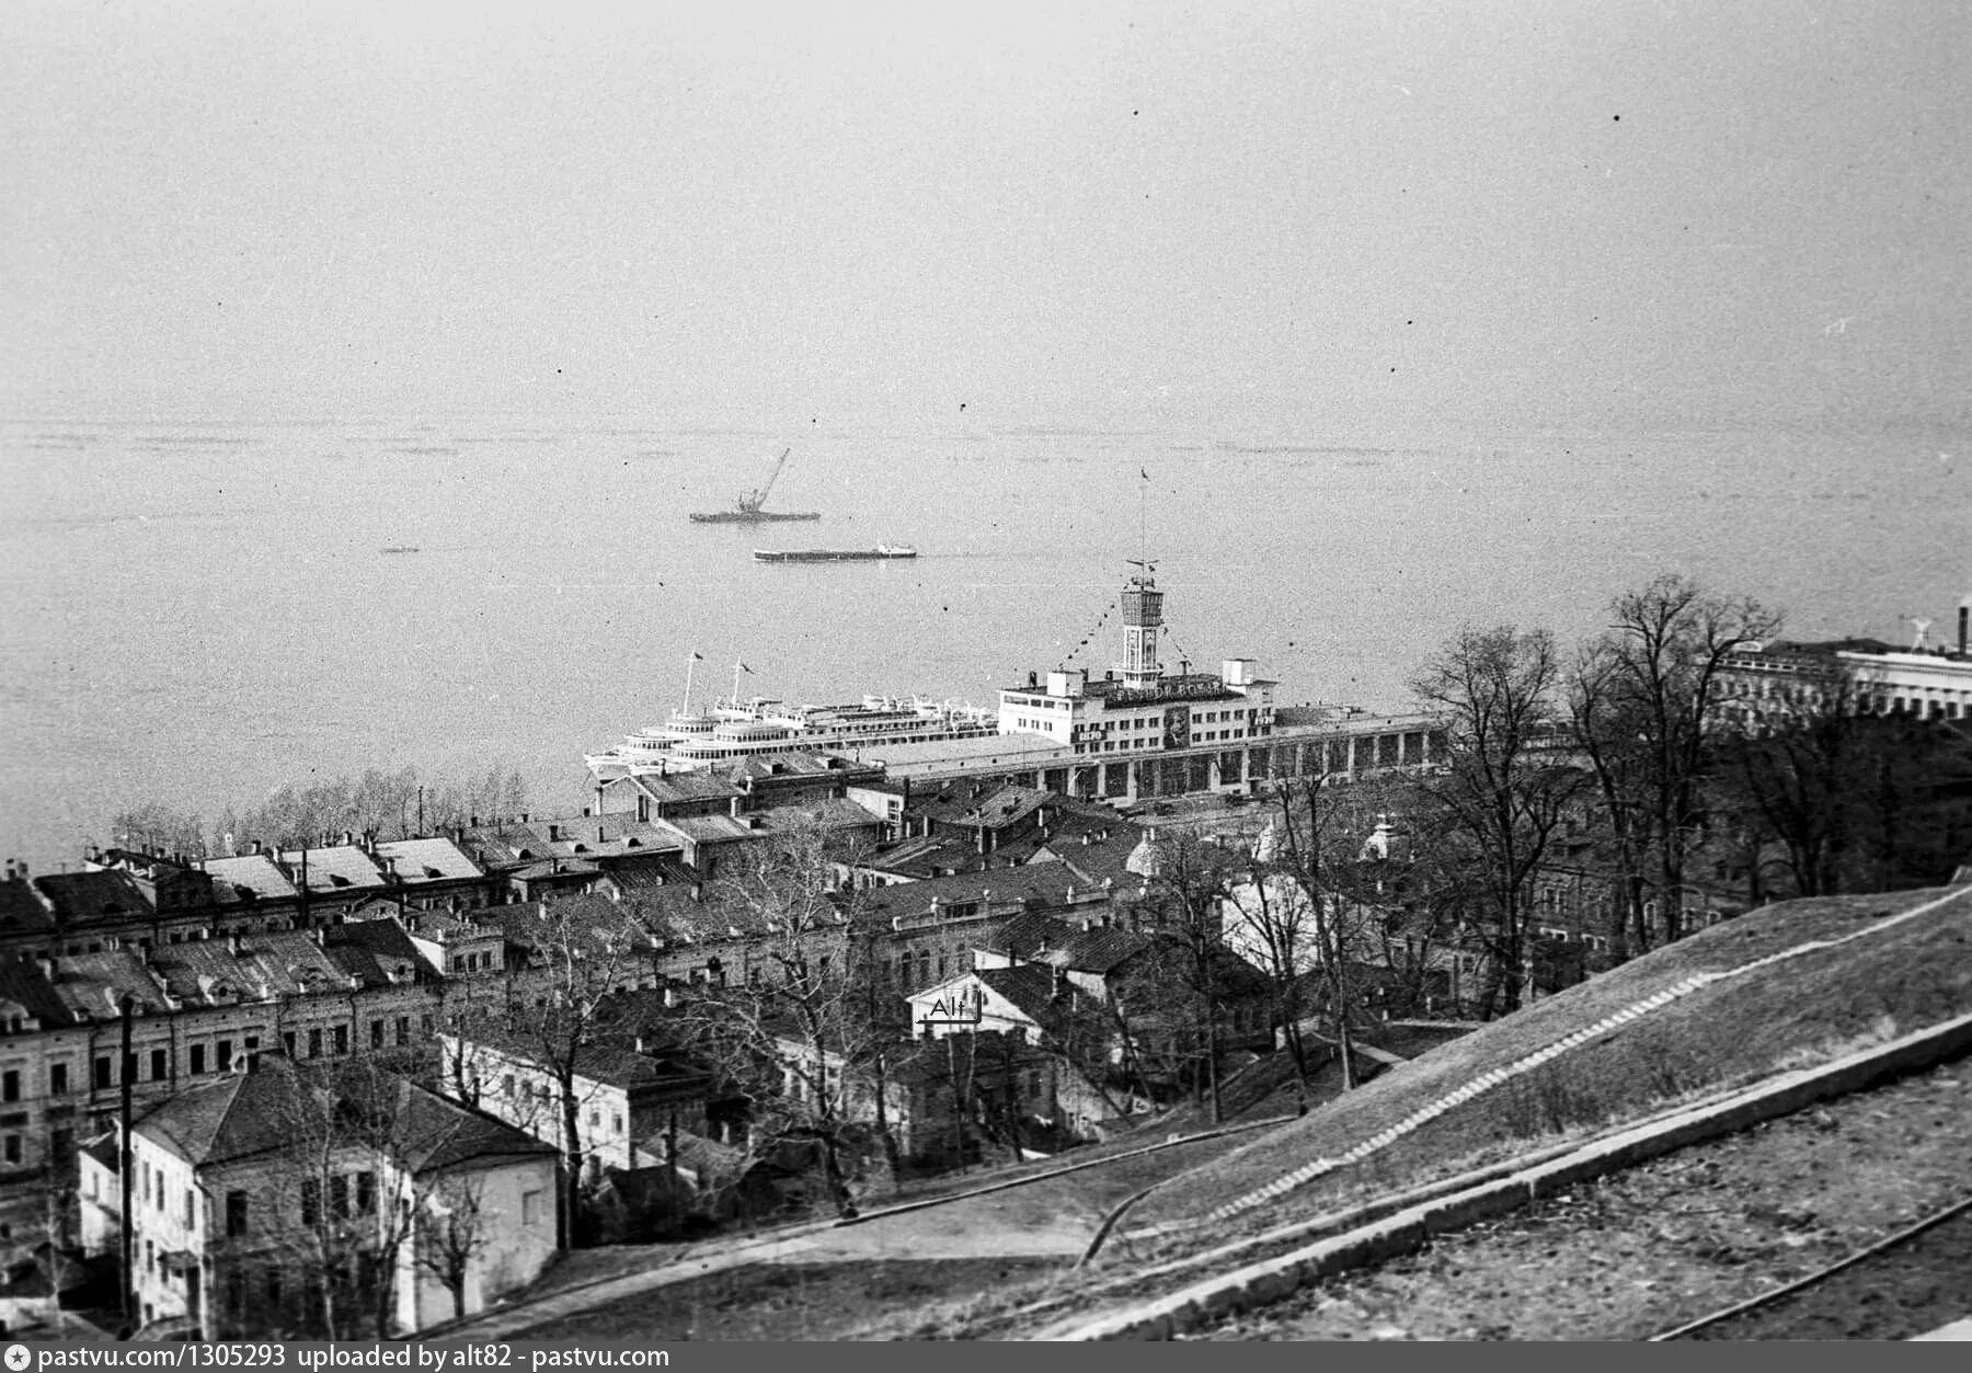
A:
[[[1524,990],[1530,888],[1582,773],[1554,748],[1558,667],[1546,631],[1463,629],[1414,677],[1445,720],[1445,769],[1420,785],[1438,842],[1483,894],[1467,933],[1487,953],[1483,1014],[1516,1010]]]

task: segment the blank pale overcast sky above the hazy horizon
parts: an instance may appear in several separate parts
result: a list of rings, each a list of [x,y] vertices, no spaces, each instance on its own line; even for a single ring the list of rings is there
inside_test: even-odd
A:
[[[1964,418],[1972,6],[0,6],[6,414]]]

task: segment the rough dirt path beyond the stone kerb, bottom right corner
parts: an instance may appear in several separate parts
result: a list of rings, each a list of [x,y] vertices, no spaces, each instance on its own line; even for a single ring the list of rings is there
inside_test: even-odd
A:
[[[1875,1243],[1972,1192],[1972,1063],[1814,1107],[1440,1235],[1211,1339],[1639,1339]],[[1873,1294],[1871,1334],[1962,1316],[1966,1272]]]

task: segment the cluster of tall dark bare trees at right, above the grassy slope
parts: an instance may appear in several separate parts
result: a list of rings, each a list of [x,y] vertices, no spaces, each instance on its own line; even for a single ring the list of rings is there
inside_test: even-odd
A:
[[[1607,876],[1611,959],[1688,933],[1694,864],[1743,903],[1944,880],[1972,848],[1972,740],[1862,710],[1832,677],[1747,728],[1729,655],[1775,612],[1660,576],[1564,661],[1544,629],[1465,629],[1412,679],[1445,720],[1445,767],[1402,803],[1457,927],[1481,947],[1485,1014],[1520,1004],[1536,884],[1568,836]]]

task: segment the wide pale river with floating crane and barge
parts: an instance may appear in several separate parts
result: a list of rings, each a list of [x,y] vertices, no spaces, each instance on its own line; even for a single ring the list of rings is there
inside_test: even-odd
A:
[[[757,485],[816,523],[692,525]],[[519,769],[692,694],[986,704],[1071,651],[1148,548],[1165,663],[1254,657],[1284,700],[1402,708],[1461,623],[1593,633],[1662,570],[1798,637],[1948,631],[1972,432],[740,432],[509,418],[0,422],[0,848],[37,872],[126,803]],[[913,544],[759,564],[757,546]],[[387,552],[414,548],[414,552]],[[1089,647],[1081,647],[1091,639]]]

